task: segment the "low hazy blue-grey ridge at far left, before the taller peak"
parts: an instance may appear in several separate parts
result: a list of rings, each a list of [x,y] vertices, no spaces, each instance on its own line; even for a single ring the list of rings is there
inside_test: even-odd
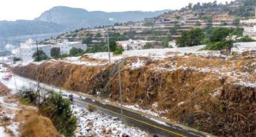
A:
[[[0,21],[0,37],[62,32],[65,27],[44,21]]]

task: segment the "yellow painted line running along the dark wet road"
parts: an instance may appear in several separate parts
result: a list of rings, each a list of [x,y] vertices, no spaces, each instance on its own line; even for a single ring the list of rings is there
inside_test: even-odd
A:
[[[90,103],[90,105],[93,105],[93,104]],[[117,113],[117,112],[114,112],[114,111],[111,111],[111,110],[107,110],[106,108],[101,108],[101,107],[99,107],[98,105],[93,105],[93,106],[96,107],[96,108],[100,108],[100,109],[102,109],[102,110],[106,110],[106,111],[108,111],[108,112],[111,112],[111,113],[114,113],[114,114],[117,114],[117,115],[121,116],[121,114],[119,114],[119,113]],[[140,122],[140,123],[144,123],[144,124],[146,124],[146,125],[150,125],[151,127],[155,127],[155,128],[164,130],[165,132],[169,132],[169,133],[175,134],[175,135],[177,135],[177,136],[186,137],[186,136],[184,136],[184,135],[182,135],[182,134],[178,134],[178,133],[176,133],[176,132],[171,132],[171,131],[169,131],[169,130],[167,130],[167,129],[164,129],[164,128],[162,128],[162,127],[158,127],[158,126],[156,126],[156,125],[152,125],[152,124],[146,123],[146,122],[144,122],[144,121],[140,121],[140,120],[138,120],[138,119],[134,119],[134,118],[129,117],[129,116],[125,116],[125,115],[123,115],[123,116],[126,117],[126,118],[128,118],[128,119],[132,119],[132,120],[134,120],[134,121],[138,121],[138,122]]]

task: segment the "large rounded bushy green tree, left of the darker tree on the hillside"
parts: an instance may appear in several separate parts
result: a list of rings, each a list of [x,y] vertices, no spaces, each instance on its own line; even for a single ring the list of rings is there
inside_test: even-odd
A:
[[[201,45],[204,40],[204,30],[200,28],[192,29],[191,31],[184,31],[180,38],[177,38],[178,47],[191,47]]]

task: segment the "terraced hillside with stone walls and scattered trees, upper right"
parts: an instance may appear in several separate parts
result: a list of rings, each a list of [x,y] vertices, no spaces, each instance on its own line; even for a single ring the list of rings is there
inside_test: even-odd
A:
[[[179,38],[182,32],[198,27],[205,30],[206,38],[211,35],[213,27],[231,28],[231,32],[239,32],[231,33],[231,35],[236,35],[239,38],[243,35],[244,27],[253,27],[240,21],[254,18],[255,3],[255,0],[236,0],[225,4],[209,2],[193,5],[189,3],[188,6],[180,10],[164,12],[164,14],[145,18],[140,22],[127,22],[104,28],[99,26],[76,29],[73,32],[61,34],[48,42],[63,39],[85,40],[92,49],[106,49],[104,46],[107,44],[107,29],[110,39],[119,41],[129,39],[156,40],[162,42],[162,47],[166,47],[169,41]]]

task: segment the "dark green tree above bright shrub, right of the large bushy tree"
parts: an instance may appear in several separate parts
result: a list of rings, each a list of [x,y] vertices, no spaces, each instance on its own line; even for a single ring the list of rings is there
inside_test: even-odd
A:
[[[210,42],[218,42],[222,40],[226,40],[226,37],[231,32],[231,29],[226,27],[219,27],[213,29],[213,34],[210,36]]]

